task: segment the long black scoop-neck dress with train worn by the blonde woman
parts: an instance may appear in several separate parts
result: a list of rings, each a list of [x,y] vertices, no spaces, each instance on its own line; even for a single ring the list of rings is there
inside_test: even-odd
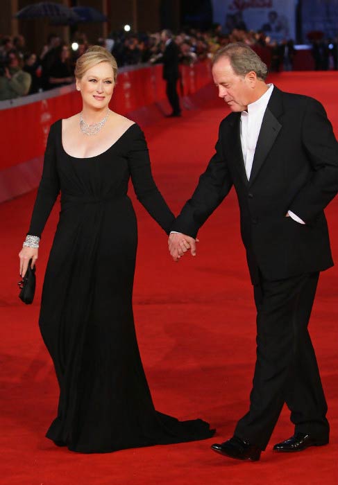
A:
[[[62,148],[51,126],[28,233],[40,236],[59,191],[60,220],[42,291],[40,329],[60,385],[58,416],[47,437],[78,452],[111,452],[205,439],[197,419],[155,411],[137,347],[132,309],[137,198],[169,232],[174,215],[151,175],[146,141],[131,125],[96,157]]]

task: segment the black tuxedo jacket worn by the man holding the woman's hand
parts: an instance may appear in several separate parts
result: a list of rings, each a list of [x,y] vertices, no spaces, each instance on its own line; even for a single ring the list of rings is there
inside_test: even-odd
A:
[[[221,122],[216,153],[171,229],[196,237],[234,185],[253,283],[258,270],[269,281],[326,270],[333,262],[323,209],[338,191],[338,143],[323,106],[274,87],[249,180],[240,116]],[[306,224],[285,217],[289,210]]]

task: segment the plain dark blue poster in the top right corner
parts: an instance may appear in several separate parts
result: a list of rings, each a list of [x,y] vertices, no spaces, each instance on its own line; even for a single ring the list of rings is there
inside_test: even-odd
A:
[[[302,3],[303,40],[338,36],[338,0],[307,0]]]

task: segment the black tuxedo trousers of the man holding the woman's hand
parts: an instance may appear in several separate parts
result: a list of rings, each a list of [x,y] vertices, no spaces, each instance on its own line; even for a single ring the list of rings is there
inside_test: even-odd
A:
[[[257,360],[248,413],[235,435],[264,450],[284,403],[295,432],[328,438],[327,404],[307,326],[319,273],[254,286]]]

